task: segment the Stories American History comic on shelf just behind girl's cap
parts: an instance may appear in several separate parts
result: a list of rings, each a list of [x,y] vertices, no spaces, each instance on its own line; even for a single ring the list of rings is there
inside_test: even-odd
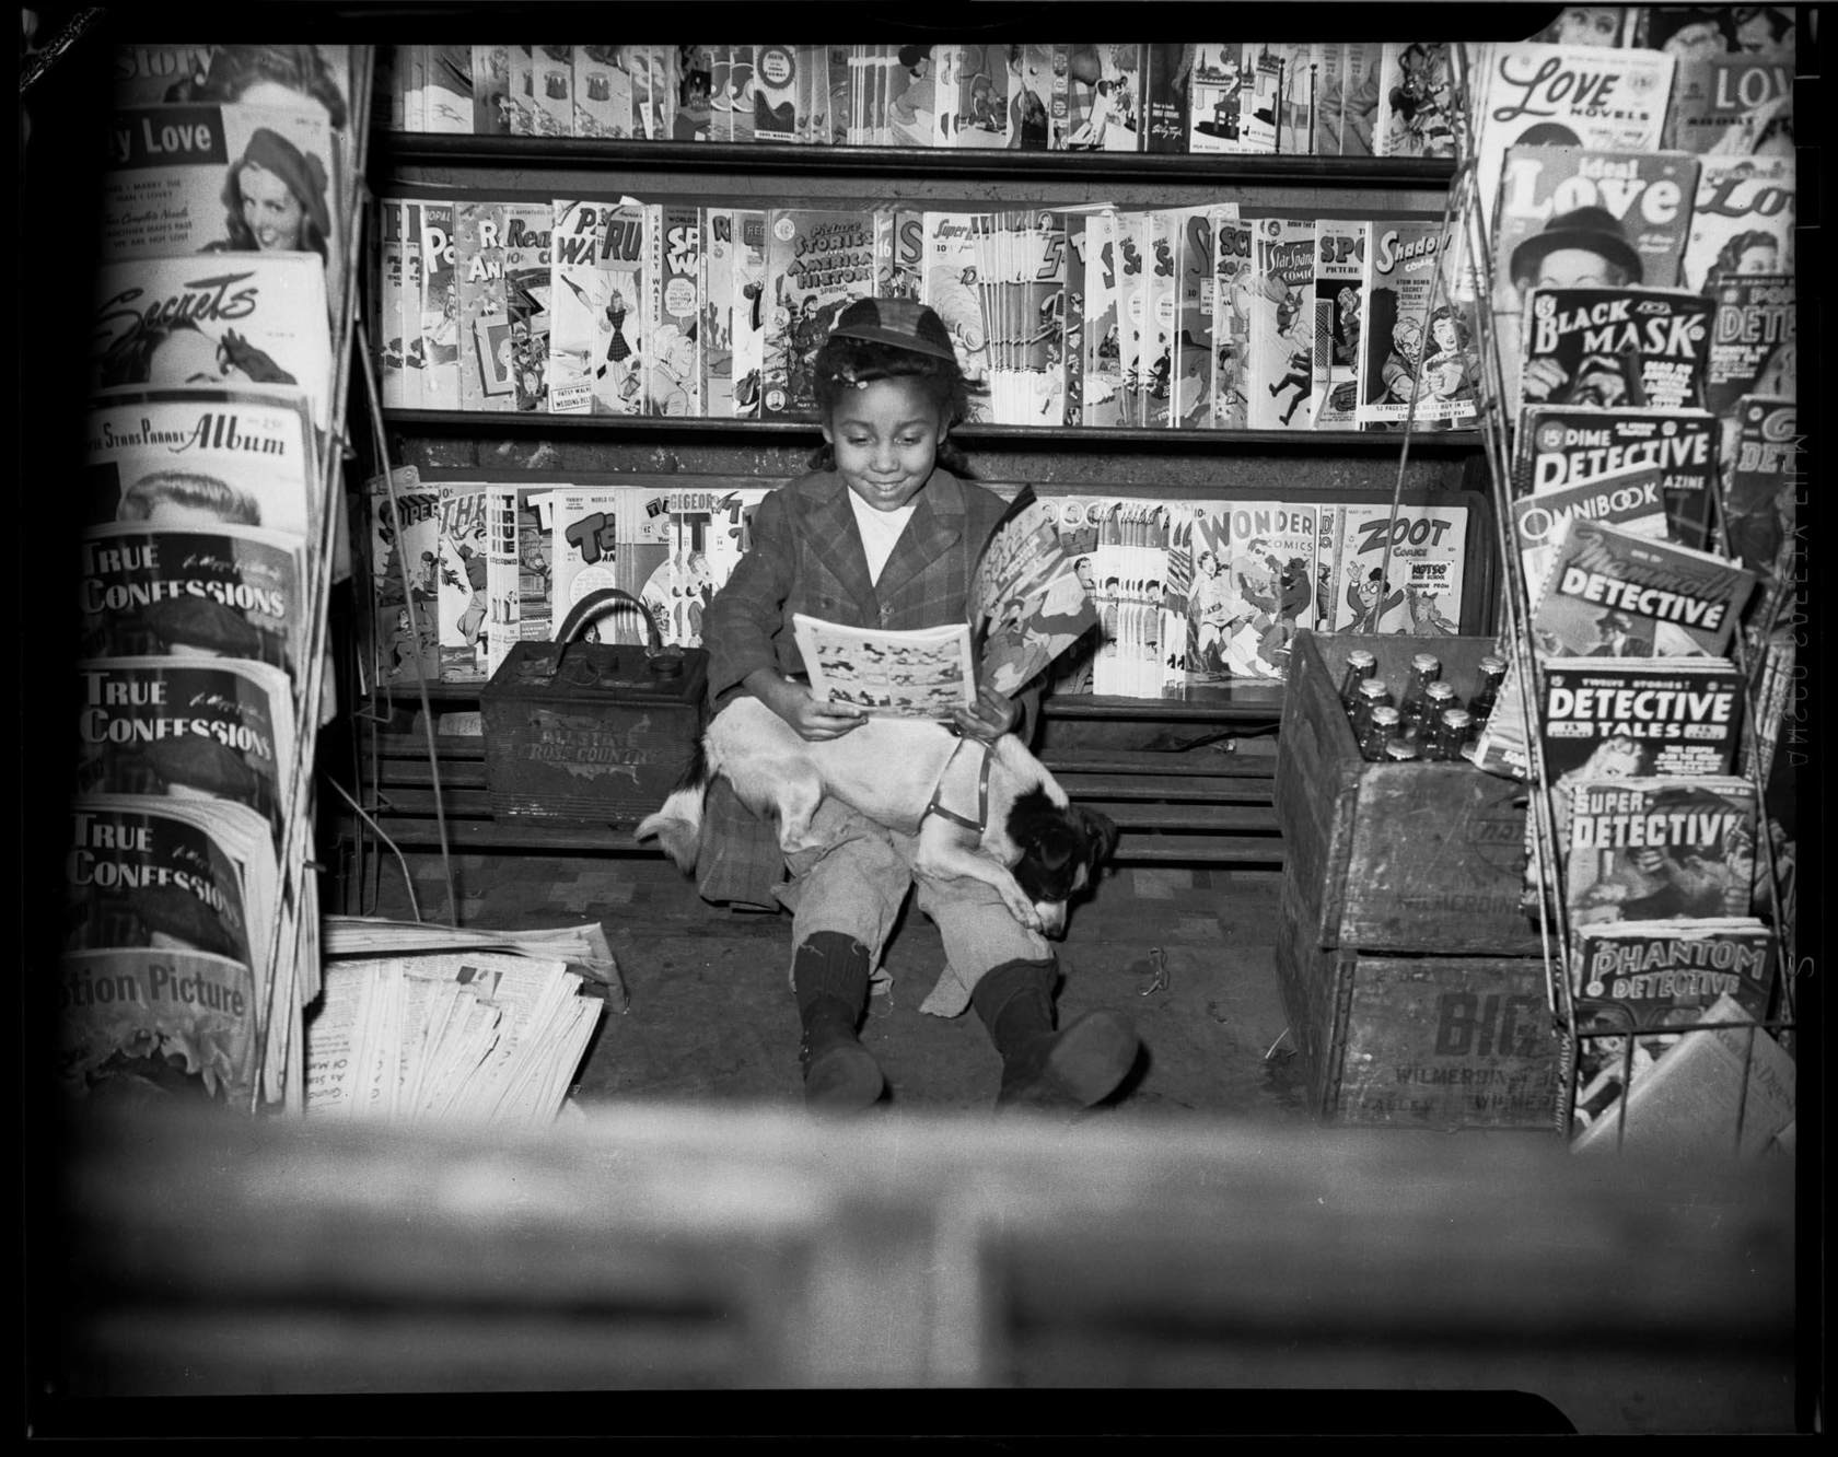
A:
[[[928,215],[930,217],[930,215]],[[963,226],[969,243],[969,224]],[[965,259],[974,268],[974,261]],[[855,299],[875,292],[871,213],[774,208],[766,213],[766,336],[761,419],[809,419],[816,412],[816,351]],[[943,285],[941,285],[943,287]],[[974,285],[958,285],[981,325]],[[926,299],[947,323],[952,314]],[[958,307],[961,318],[963,305]],[[981,336],[978,334],[978,344]],[[978,373],[978,378],[981,375]]]

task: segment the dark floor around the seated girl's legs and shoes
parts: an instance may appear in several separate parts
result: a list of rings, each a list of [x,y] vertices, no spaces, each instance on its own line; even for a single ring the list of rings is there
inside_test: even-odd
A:
[[[445,919],[437,854],[410,856],[421,915]],[[798,1014],[785,985],[790,917],[708,906],[675,867],[649,858],[454,858],[460,924],[516,928],[599,921],[630,994],[583,1067],[583,1106],[608,1099],[801,1104]],[[1112,869],[1061,944],[1061,1020],[1127,1012],[1143,1053],[1097,1113],[1208,1112],[1307,1124],[1283,1036],[1272,943],[1281,876],[1270,871]],[[397,865],[375,915],[406,917]],[[1156,987],[1160,948],[1167,985]],[[893,988],[871,998],[862,1040],[888,1077],[886,1106],[987,1108],[1000,1058],[974,1012],[919,1012],[943,946],[908,913],[888,948]]]

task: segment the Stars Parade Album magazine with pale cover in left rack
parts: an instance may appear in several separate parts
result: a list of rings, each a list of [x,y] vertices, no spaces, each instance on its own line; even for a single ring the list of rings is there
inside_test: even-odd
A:
[[[325,502],[309,410],[272,386],[101,393],[85,423],[85,520],[255,525],[312,553]]]

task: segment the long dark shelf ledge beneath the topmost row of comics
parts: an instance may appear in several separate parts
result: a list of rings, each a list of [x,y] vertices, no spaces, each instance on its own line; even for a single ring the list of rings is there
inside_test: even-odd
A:
[[[373,130],[369,165],[518,171],[783,173],[794,176],[1015,178],[1027,182],[1231,182],[1298,187],[1441,187],[1448,158],[1231,156],[1219,152],[1022,152],[998,147],[807,147],[783,141],[630,141],[590,136],[454,136]],[[608,186],[612,186],[608,182]]]

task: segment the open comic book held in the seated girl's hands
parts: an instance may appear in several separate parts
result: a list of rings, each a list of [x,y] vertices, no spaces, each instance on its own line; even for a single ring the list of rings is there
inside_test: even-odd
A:
[[[794,614],[811,691],[869,713],[950,718],[978,683],[1013,696],[1097,625],[1092,593],[1064,551],[1057,514],[1024,489],[970,573],[970,621],[912,632]]]

